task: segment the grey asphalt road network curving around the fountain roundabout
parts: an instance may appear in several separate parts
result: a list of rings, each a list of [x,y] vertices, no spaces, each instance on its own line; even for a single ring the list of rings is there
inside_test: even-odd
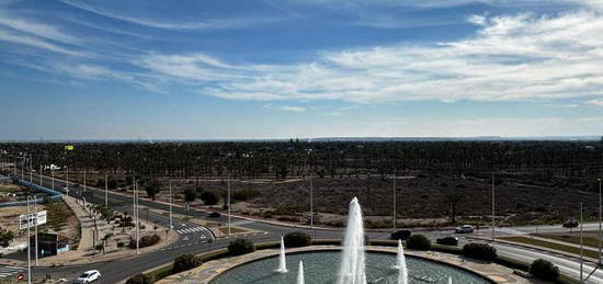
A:
[[[25,177],[25,180],[29,180],[27,177]],[[38,182],[39,179],[37,175],[34,174],[34,182]],[[43,184],[46,186],[50,186],[50,179],[49,178],[43,178]],[[62,181],[55,180],[55,188],[61,189],[65,186],[65,183]],[[70,186],[70,189],[73,189]],[[104,190],[94,190],[94,189],[88,189],[86,192],[83,192],[81,189],[76,189],[70,191],[71,194],[82,194],[82,196],[86,197],[88,202],[92,202],[95,204],[104,204]],[[109,204],[112,208],[115,208],[117,211],[129,211],[132,212],[132,197],[130,196],[123,196],[121,194],[115,194],[112,192],[109,192]],[[141,206],[168,211],[169,205],[163,203],[157,203],[149,200],[143,200],[140,198],[139,204]],[[179,214],[185,214],[185,209],[180,206],[173,206],[173,212]],[[146,212],[140,211],[140,217],[146,218]],[[157,221],[159,224],[162,224],[163,226],[167,226],[169,224],[168,217],[155,214],[152,212],[149,212],[149,220],[150,221]],[[208,218],[208,214],[197,211],[190,211],[190,216],[193,218]],[[219,220],[221,223],[227,221],[226,216],[221,216],[220,218],[214,218],[213,220]],[[179,219],[174,219],[174,229],[183,230],[184,228],[191,228],[191,227],[198,227],[198,225],[182,221]],[[262,241],[277,241],[281,236],[284,236],[287,232],[292,231],[306,231],[310,235],[312,235],[315,238],[341,238],[342,237],[342,230],[310,230],[310,229],[300,229],[300,228],[292,228],[292,227],[285,227],[285,226],[277,226],[273,224],[266,224],[261,221],[249,221],[247,219],[240,219],[232,217],[231,221],[234,224],[241,224],[246,227],[252,228],[254,230],[264,231],[265,234],[261,234],[258,236],[249,237],[254,242],[262,242]],[[598,229],[598,224],[585,224],[584,229]],[[511,227],[511,228],[497,228],[496,234],[497,235],[515,235],[515,234],[528,234],[528,232],[554,232],[554,231],[565,231],[567,229],[562,228],[560,225],[558,226],[530,226],[530,227]],[[195,231],[197,236],[205,236],[205,240],[208,238],[212,238],[211,234],[208,234],[205,230]],[[482,229],[482,234],[489,234],[490,230]],[[452,235],[452,231],[450,229],[446,230],[429,230],[429,231],[422,231],[422,234],[426,235],[431,239],[435,239],[443,236],[450,236]],[[189,234],[182,234],[179,237],[179,240],[172,245],[171,247],[167,249],[162,249],[156,252],[149,252],[141,255],[138,255],[136,258],[130,259],[124,259],[124,260],[116,260],[105,263],[93,263],[93,264],[87,264],[87,265],[70,265],[70,266],[59,266],[59,268],[36,268],[34,269],[34,275],[35,277],[39,279],[43,277],[46,274],[50,274],[53,279],[57,277],[65,277],[68,280],[75,279],[77,275],[79,275],[81,272],[86,270],[99,270],[103,277],[100,281],[100,283],[115,283],[118,281],[122,281],[124,279],[127,279],[128,276],[172,262],[173,259],[177,257],[184,254],[184,253],[202,253],[211,250],[209,243],[207,241],[203,241],[203,237],[198,238],[190,238],[185,237]],[[389,232],[387,231],[367,231],[367,235],[371,239],[386,239],[389,237]],[[460,242],[465,243],[468,242],[464,238],[464,236],[460,237]],[[216,239],[213,241],[212,249],[216,248],[224,248],[228,246],[228,242],[231,239]],[[523,247],[515,247],[515,246],[509,246],[509,245],[501,245],[501,243],[493,243],[493,246],[497,248],[499,254],[510,257],[516,260],[525,261],[525,262],[532,262],[535,259],[547,259],[555,264],[557,264],[561,272],[567,273],[568,275],[571,275],[576,279],[580,275],[580,262],[578,259],[574,258],[568,258],[565,255],[557,255],[551,252],[543,251],[543,250],[536,250],[536,249],[526,249]],[[127,269],[125,269],[127,268]],[[593,263],[585,262],[584,265],[584,273],[590,273],[594,269]],[[585,276],[585,275],[584,275]],[[599,270],[596,271],[593,276],[589,280],[587,283],[603,283],[603,271]]]

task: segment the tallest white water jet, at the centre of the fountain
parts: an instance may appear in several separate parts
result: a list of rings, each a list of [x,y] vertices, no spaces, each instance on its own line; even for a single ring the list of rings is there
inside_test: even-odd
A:
[[[356,197],[350,202],[338,283],[366,284],[366,272],[364,270],[364,227],[362,209]]]

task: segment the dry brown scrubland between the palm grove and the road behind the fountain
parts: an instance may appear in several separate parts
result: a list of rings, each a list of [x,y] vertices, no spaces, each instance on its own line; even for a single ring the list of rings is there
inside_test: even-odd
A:
[[[569,178],[503,174],[497,183],[497,213],[501,225],[550,224],[578,215],[579,203],[584,202],[585,218],[596,215],[595,183]],[[591,184],[591,185],[589,185]],[[309,182],[235,181],[234,209],[238,213],[304,223],[309,212]],[[368,227],[391,225],[392,182],[380,177],[314,179],[315,209],[319,224],[342,226],[348,203],[357,196],[363,204]],[[177,198],[184,189],[214,191],[223,195],[225,181],[190,180],[177,183]],[[167,192],[158,195],[167,200]],[[452,200],[456,201],[457,221],[489,223],[491,211],[490,177],[414,174],[398,177],[398,217],[403,226],[440,226],[450,224]],[[182,200],[181,200],[182,201]],[[195,204],[202,205],[197,201]],[[221,206],[213,206],[220,209]]]

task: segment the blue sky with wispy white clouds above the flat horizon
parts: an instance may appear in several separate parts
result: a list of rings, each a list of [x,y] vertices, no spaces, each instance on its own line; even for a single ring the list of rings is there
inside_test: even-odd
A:
[[[603,0],[0,0],[1,139],[603,134]]]

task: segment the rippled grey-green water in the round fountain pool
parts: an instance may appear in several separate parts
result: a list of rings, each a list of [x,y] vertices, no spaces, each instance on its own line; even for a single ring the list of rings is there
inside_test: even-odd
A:
[[[340,250],[309,251],[287,254],[287,262],[293,264],[289,273],[274,272],[278,265],[278,257],[268,257],[225,271],[212,284],[291,284],[297,280],[297,263],[304,262],[306,283],[333,284],[338,282],[340,269]],[[396,254],[386,252],[366,252],[367,283],[394,284],[398,281]],[[473,272],[432,260],[407,255],[410,284],[453,283],[491,284],[488,279]]]

